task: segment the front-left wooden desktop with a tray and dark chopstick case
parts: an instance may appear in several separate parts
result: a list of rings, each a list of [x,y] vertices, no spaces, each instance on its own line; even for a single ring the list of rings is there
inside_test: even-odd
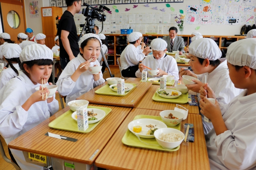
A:
[[[131,108],[95,104],[89,104],[89,106],[110,107],[112,109],[100,124],[89,133],[76,133],[48,127],[50,122],[69,110],[69,107],[66,107],[40,125],[14,139],[8,146],[11,149],[25,152],[42,154],[83,164],[93,164],[102,149],[131,111]],[[70,117],[70,121],[74,120]],[[72,137],[78,139],[78,141],[70,142],[48,137],[44,135],[46,132]],[[99,149],[99,151],[93,158],[89,159],[97,149]]]

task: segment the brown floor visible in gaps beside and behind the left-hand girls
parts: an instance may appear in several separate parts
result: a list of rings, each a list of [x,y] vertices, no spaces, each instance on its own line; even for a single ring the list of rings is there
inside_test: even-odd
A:
[[[109,78],[110,77],[110,74],[109,74],[109,71],[108,71],[108,68],[106,68],[107,72],[105,72],[103,74],[103,78],[106,79],[106,78]],[[119,70],[119,67],[118,66],[110,66],[110,71],[112,74],[114,74],[115,77],[121,77],[121,74],[120,74],[120,70]],[[56,94],[56,100],[59,101],[59,110],[61,110],[61,105],[60,105],[60,98],[59,98],[59,95]],[[64,100],[63,100],[64,102]],[[64,107],[66,106],[66,104],[64,103]],[[10,159],[10,155],[8,153],[8,146],[6,145],[5,141],[4,141],[4,138],[2,136],[0,136],[0,139],[1,139],[1,142],[2,142],[2,145],[4,147],[4,151],[6,153],[6,156]],[[8,164],[3,158],[2,158],[2,155],[0,155],[0,170],[16,170],[14,168],[14,166],[12,166],[12,164]]]

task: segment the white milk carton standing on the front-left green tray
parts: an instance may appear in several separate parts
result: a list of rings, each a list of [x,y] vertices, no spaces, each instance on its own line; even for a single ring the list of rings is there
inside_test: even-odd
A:
[[[86,131],[88,129],[88,115],[87,115],[87,106],[79,107],[76,109],[77,115],[77,127],[78,131]]]

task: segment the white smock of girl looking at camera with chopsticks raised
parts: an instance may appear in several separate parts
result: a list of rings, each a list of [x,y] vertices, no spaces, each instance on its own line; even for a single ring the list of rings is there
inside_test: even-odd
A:
[[[58,86],[59,94],[62,96],[67,96],[66,103],[72,100],[76,100],[76,98],[82,94],[85,94],[89,90],[92,90],[93,88],[105,82],[102,72],[100,72],[100,79],[98,81],[94,81],[93,75],[89,72],[89,70],[83,72],[76,80],[76,82],[74,82],[70,77],[72,74],[74,74],[78,66],[84,62],[86,62],[85,59],[80,54],[78,54],[75,59],[72,59],[67,64],[56,83]],[[100,66],[98,60],[90,63],[90,66],[94,65]]]

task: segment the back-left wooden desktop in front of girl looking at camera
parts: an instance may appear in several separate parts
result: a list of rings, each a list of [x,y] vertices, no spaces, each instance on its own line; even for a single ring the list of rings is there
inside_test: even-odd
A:
[[[134,89],[132,89],[131,92],[129,92],[126,96],[119,97],[119,96],[106,96],[106,95],[99,95],[96,94],[95,91],[101,88],[102,86],[105,86],[105,84],[108,84],[108,82],[105,82],[101,84],[100,86],[90,90],[89,92],[83,94],[82,96],[78,97],[78,99],[82,100],[88,100],[90,103],[94,104],[105,104],[105,105],[111,105],[111,106],[123,106],[123,107],[134,107],[144,96],[144,94],[147,92],[147,90],[150,88],[152,83],[150,82],[139,82],[139,81],[125,81],[126,83],[134,83],[137,84]]]

